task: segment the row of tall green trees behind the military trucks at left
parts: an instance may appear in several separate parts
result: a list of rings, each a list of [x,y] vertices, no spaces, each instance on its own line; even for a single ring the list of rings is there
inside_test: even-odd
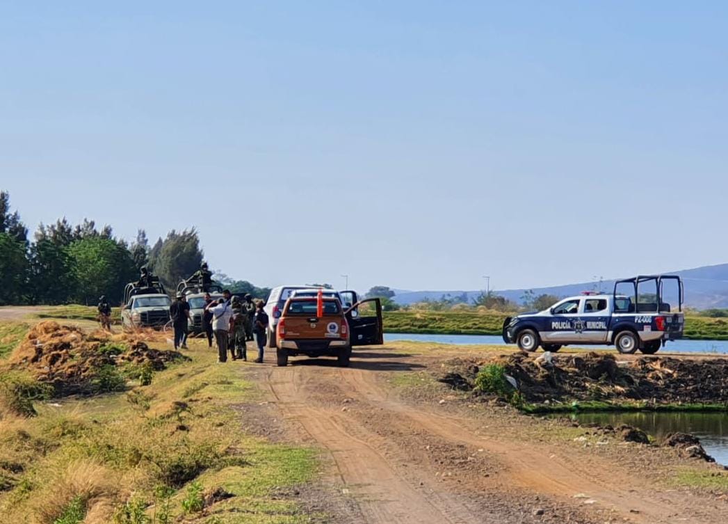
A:
[[[138,279],[143,266],[173,290],[199,268],[203,256],[194,228],[172,230],[150,246],[144,230],[127,243],[108,225],[98,228],[84,219],[74,226],[64,217],[40,224],[31,241],[20,214],[11,212],[8,193],[0,192],[0,305],[95,304],[101,295],[119,303],[124,286]],[[232,292],[268,296],[269,289],[248,281],[215,278]]]

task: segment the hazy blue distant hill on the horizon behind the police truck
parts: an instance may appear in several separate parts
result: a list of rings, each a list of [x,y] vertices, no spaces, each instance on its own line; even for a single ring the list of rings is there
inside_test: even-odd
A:
[[[728,308],[728,264],[719,264],[695,269],[670,271],[670,274],[680,275],[685,286],[685,305],[695,309]],[[530,288],[534,294],[553,294],[557,297],[569,297],[583,291],[593,290],[598,283],[582,282],[571,283],[563,286],[550,286]],[[604,292],[611,292],[614,289],[614,280],[602,281],[601,289]],[[521,297],[526,289],[502,289],[495,291],[496,294],[506,297],[508,300],[520,303]],[[446,291],[406,291],[396,290],[394,300],[403,305],[421,302],[426,298],[429,300],[440,300],[443,295],[456,297],[467,294],[468,302],[472,302],[481,293],[481,290],[446,290]]]

